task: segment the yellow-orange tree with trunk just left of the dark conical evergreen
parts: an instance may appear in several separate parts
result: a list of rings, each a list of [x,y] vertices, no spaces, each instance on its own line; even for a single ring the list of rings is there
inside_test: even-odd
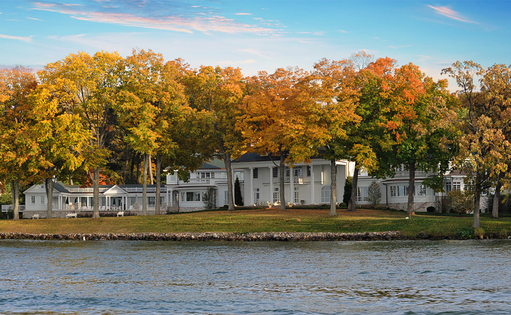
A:
[[[225,163],[227,172],[228,210],[234,210],[234,182],[231,159],[240,155],[245,147],[241,132],[236,129],[240,116],[244,83],[239,68],[201,66],[189,70],[183,78],[189,104],[197,111],[211,115],[210,139],[214,139],[217,156]]]

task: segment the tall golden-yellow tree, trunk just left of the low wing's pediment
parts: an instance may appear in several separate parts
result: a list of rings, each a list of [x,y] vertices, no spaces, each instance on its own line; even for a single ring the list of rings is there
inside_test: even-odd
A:
[[[82,152],[85,169],[94,183],[94,214],[99,218],[99,178],[111,154],[110,141],[117,126],[112,104],[119,88],[122,58],[117,53],[80,52],[49,63],[39,77],[50,89],[58,110],[78,115],[88,134]]]

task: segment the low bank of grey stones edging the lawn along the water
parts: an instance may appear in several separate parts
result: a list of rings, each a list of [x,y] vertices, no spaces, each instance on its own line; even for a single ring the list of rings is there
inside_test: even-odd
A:
[[[376,241],[408,239],[403,232],[370,233],[10,233],[0,232],[2,239],[47,240],[149,240],[149,241]]]

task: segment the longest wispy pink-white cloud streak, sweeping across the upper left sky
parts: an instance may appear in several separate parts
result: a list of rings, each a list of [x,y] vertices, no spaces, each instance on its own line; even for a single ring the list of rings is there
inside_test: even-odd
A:
[[[80,7],[79,10],[58,3],[36,2],[32,5],[34,6],[33,9],[59,12],[79,20],[185,33],[199,31],[203,33],[222,32],[228,34],[271,35],[281,32],[280,28],[275,28],[274,26],[261,27],[250,25],[226,18],[213,11],[208,12],[208,14],[200,12],[202,16],[197,16],[197,12],[192,12],[193,10],[169,15],[168,8],[157,7],[157,3],[152,2],[148,3],[149,7],[147,8],[139,6],[131,8],[131,3],[119,1],[112,1],[110,4],[118,5],[119,8],[112,10],[95,5],[93,2],[87,3],[87,5]],[[180,7],[180,9],[182,8]]]

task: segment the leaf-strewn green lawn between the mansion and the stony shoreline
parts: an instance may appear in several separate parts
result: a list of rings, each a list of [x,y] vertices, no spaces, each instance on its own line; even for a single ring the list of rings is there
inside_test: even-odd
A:
[[[415,236],[454,235],[472,224],[472,216],[417,213],[410,219],[404,212],[359,209],[337,210],[278,209],[206,211],[158,216],[102,217],[78,219],[0,220],[0,231],[20,233],[173,233],[173,232],[385,232],[403,231]],[[487,234],[505,229],[511,234],[511,217],[481,217]]]

